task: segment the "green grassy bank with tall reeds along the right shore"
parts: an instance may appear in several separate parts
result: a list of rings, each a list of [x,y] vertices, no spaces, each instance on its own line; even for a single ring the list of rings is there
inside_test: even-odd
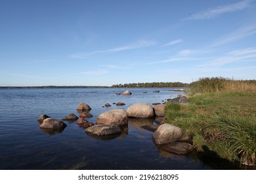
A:
[[[255,168],[255,81],[202,78],[190,90],[189,105],[167,105],[167,122],[186,130],[198,152],[207,147],[220,158]]]

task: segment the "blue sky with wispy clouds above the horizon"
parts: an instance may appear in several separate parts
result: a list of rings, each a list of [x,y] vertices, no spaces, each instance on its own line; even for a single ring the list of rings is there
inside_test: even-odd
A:
[[[0,86],[256,79],[256,2],[0,1]]]

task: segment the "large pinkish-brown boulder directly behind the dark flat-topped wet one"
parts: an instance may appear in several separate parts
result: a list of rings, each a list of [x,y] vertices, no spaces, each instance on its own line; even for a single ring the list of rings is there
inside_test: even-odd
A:
[[[127,125],[128,116],[127,112],[123,109],[108,110],[100,114],[96,120],[96,124],[115,124],[115,125]]]

